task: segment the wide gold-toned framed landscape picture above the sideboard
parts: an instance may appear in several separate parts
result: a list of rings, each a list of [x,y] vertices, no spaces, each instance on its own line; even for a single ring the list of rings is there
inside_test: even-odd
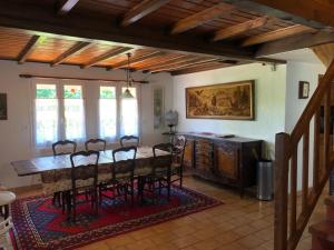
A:
[[[254,80],[186,88],[186,116],[254,120]]]

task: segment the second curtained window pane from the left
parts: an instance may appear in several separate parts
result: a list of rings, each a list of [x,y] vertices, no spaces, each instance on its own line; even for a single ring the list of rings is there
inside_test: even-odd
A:
[[[85,140],[85,107],[81,86],[63,86],[65,136],[69,140]]]

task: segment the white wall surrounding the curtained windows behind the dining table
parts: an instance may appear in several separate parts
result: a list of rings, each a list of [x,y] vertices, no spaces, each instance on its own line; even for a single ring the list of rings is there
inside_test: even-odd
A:
[[[21,187],[36,183],[38,178],[18,178],[10,161],[29,159],[35,156],[31,146],[31,79],[19,78],[20,73],[59,76],[59,77],[82,77],[82,78],[106,78],[124,79],[121,70],[106,71],[104,69],[80,69],[72,66],[59,66],[51,68],[41,63],[24,63],[22,66],[11,61],[0,61],[0,92],[8,93],[8,120],[0,121],[0,183],[8,187]],[[154,144],[166,138],[161,136],[161,130],[154,130],[153,124],[153,100],[151,89],[161,86],[165,89],[165,109],[173,108],[173,79],[169,74],[141,74],[135,73],[136,80],[147,79],[150,84],[140,87],[140,117],[141,117],[141,142],[143,144]],[[94,82],[85,83],[88,90]],[[87,114],[90,116],[95,110],[90,110],[92,101],[91,94],[86,91]],[[90,113],[90,114],[89,114]],[[88,120],[90,120],[88,118]],[[96,121],[90,120],[87,128],[87,136],[96,134]]]

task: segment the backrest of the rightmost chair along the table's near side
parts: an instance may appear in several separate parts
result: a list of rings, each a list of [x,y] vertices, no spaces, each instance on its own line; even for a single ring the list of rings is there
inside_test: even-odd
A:
[[[153,147],[154,161],[153,161],[153,171],[165,172],[170,171],[170,166],[173,162],[173,149],[174,146],[171,143],[160,143]],[[169,152],[168,154],[159,154],[159,150]]]

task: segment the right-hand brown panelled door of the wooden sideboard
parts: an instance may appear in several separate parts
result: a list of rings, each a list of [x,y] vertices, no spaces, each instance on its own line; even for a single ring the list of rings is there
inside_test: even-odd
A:
[[[230,143],[215,144],[215,171],[233,180],[238,179],[239,156],[238,149]]]

